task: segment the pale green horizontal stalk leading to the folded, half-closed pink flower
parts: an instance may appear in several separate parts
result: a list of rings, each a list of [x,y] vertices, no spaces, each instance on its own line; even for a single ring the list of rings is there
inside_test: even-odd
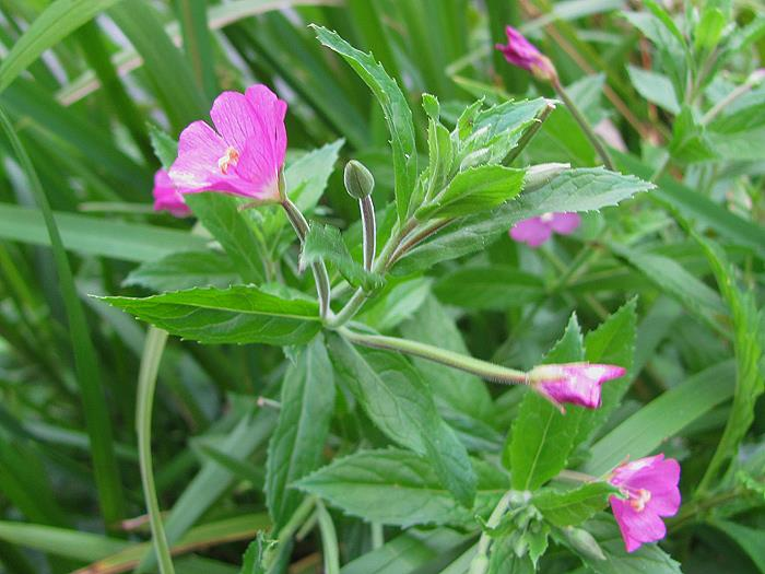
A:
[[[526,384],[527,374],[522,371],[507,368],[502,365],[481,361],[472,356],[454,353],[432,344],[411,341],[409,339],[399,339],[397,337],[385,337],[381,335],[362,335],[351,331],[344,327],[339,329],[339,332],[350,342],[372,349],[386,349],[389,351],[398,351],[400,353],[419,356],[440,363],[442,365],[458,368],[467,373],[472,373],[486,380],[504,384]]]

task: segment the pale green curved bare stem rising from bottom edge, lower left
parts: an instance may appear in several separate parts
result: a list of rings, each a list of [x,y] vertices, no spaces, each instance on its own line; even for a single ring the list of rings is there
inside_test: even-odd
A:
[[[138,432],[138,457],[141,468],[143,497],[149,513],[149,524],[152,530],[152,543],[160,565],[161,574],[174,574],[170,549],[167,544],[165,528],[162,524],[160,503],[154,485],[152,469],[152,406],[156,388],[156,375],[162,361],[162,352],[167,341],[167,332],[150,327],[143,345],[141,370],[138,375],[138,402],[136,405],[136,426]]]

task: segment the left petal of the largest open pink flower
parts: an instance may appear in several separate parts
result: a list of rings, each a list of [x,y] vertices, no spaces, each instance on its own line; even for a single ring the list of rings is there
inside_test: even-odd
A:
[[[204,121],[195,121],[180,132],[178,159],[169,169],[180,192],[210,189],[219,177],[217,161],[226,153],[226,143]]]

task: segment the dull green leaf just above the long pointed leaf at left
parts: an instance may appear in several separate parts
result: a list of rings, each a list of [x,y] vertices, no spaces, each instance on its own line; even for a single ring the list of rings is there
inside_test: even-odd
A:
[[[195,286],[227,288],[238,281],[231,259],[215,251],[184,251],[148,261],[130,271],[123,285],[154,291],[178,291]]]

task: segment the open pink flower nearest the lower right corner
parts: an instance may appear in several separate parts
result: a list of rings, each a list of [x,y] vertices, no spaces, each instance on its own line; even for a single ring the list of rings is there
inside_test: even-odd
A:
[[[656,542],[667,535],[663,516],[674,516],[680,508],[680,465],[664,455],[640,458],[614,469],[609,482],[625,499],[611,496],[611,509],[622,531],[627,552]]]

